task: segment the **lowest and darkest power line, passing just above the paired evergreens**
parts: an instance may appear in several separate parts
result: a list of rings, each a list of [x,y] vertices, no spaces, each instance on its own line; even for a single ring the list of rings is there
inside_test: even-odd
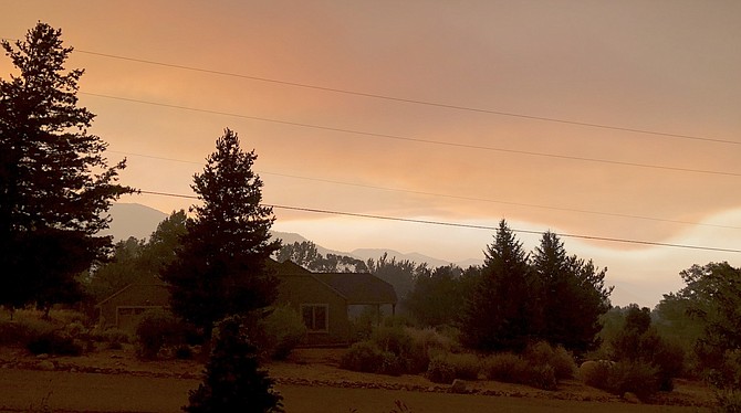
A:
[[[144,190],[142,190],[142,191],[139,191],[139,193],[152,194],[152,195],[161,195],[161,197],[185,198],[185,199],[199,199],[196,195],[184,195],[184,194],[168,193],[168,192],[155,192],[155,191],[144,191]],[[440,226],[450,226],[450,227],[497,231],[497,226],[490,226],[490,225],[473,225],[473,224],[461,224],[461,223],[443,222],[443,221],[415,220],[415,219],[409,219],[409,218],[376,215],[376,214],[355,213],[355,212],[342,212],[342,211],[332,211],[332,210],[304,208],[304,206],[290,206],[290,205],[279,205],[279,204],[262,204],[262,205],[263,206],[270,206],[270,208],[273,208],[273,209],[281,209],[281,210],[289,210],[289,211],[300,211],[300,212],[311,212],[311,213],[321,213],[321,214],[328,214],[328,215],[353,216],[353,218],[364,218],[364,219],[372,219],[372,220],[383,220],[383,221],[407,222],[407,223],[427,224],[427,225],[440,225]],[[512,232],[521,233],[521,234],[535,234],[535,235],[542,234],[542,232],[540,232],[540,231],[531,231],[531,230],[515,230],[515,229],[512,229]],[[723,253],[741,253],[741,250],[732,250],[732,248],[719,248],[719,247],[713,247],[713,246],[672,244],[672,243],[662,243],[662,242],[653,242],[653,241],[616,239],[616,237],[607,237],[607,236],[580,235],[580,234],[559,234],[559,236],[570,237],[570,239],[578,239],[578,240],[589,240],[589,241],[606,241],[606,242],[623,243],[623,244],[664,246],[664,247],[672,247],[672,248],[712,251],[712,252],[723,252]]]

